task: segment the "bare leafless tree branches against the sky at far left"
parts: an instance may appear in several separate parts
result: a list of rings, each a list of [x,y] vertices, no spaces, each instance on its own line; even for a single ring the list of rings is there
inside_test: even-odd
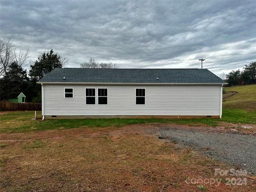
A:
[[[12,44],[12,38],[0,39],[0,76],[7,74],[8,67],[14,61],[19,66],[22,66],[26,62],[27,56],[28,50],[15,50]]]

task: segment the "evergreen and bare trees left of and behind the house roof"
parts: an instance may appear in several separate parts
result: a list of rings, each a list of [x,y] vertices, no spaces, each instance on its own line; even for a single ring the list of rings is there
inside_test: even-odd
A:
[[[55,68],[62,68],[67,63],[65,58],[53,50],[40,53],[33,65],[29,66],[29,51],[15,49],[12,39],[0,40],[0,100],[17,98],[20,92],[26,95],[27,102],[41,102],[41,85],[36,82]],[[81,68],[117,68],[111,62],[97,62],[90,58]]]

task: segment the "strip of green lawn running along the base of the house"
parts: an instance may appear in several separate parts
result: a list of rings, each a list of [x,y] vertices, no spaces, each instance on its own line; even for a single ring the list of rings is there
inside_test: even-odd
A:
[[[40,116],[38,114],[38,116]],[[15,133],[43,130],[62,130],[77,127],[90,127],[100,129],[108,126],[124,126],[131,124],[145,123],[176,123],[188,124],[191,126],[208,125],[217,126],[220,122],[256,124],[256,112],[247,112],[242,109],[224,108],[222,119],[199,118],[199,119],[54,119],[31,120],[34,117],[34,111],[17,111],[0,116],[1,133]]]

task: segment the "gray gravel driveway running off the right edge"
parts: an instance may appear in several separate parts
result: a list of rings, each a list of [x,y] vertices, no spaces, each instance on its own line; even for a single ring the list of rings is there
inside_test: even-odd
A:
[[[180,130],[175,127],[163,128],[159,135],[256,174],[256,137],[254,135]]]

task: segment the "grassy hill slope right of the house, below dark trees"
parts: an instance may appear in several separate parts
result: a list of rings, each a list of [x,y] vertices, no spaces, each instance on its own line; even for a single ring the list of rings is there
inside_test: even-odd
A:
[[[225,87],[225,91],[238,93],[223,100],[223,109],[243,109],[248,112],[256,112],[256,84]]]

